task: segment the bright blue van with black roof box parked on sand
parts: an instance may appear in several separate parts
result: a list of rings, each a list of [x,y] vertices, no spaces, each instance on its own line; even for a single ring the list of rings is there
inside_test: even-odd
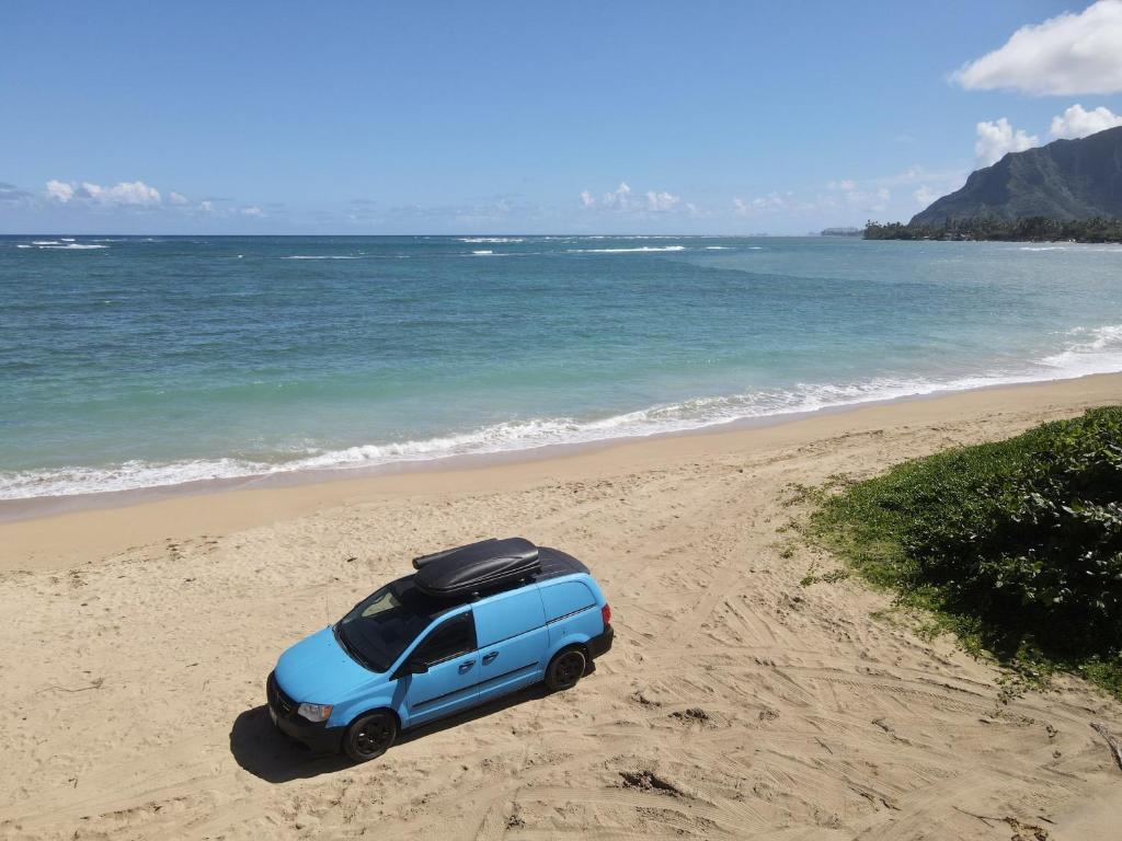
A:
[[[266,695],[284,733],[365,761],[406,728],[539,681],[571,688],[611,648],[611,609],[564,552],[491,538],[413,565],[280,655]]]

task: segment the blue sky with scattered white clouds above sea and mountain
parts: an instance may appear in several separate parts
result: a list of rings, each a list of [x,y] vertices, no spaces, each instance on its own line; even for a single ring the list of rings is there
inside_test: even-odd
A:
[[[8,0],[0,232],[907,219],[1002,151],[1112,124],[1120,21],[1122,0]]]

